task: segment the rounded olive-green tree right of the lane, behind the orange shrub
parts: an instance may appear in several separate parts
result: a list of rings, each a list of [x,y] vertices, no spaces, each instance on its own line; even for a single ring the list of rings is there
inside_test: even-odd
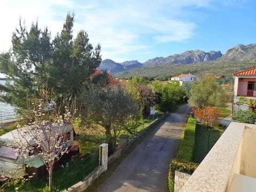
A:
[[[212,75],[205,75],[201,82],[195,82],[189,92],[188,103],[195,108],[223,107],[226,98],[220,84]]]

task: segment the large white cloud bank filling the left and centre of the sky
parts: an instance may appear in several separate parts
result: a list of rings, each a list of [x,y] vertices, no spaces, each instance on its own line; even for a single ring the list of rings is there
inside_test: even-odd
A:
[[[18,26],[19,17],[28,27],[38,18],[39,27],[47,26],[55,36],[61,31],[67,13],[74,11],[74,36],[84,29],[94,46],[101,44],[102,58],[149,54],[158,43],[193,38],[197,25],[189,19],[190,10],[195,13],[198,7],[212,9],[216,2],[233,3],[231,0],[1,0],[4,30],[0,32],[0,52],[10,48],[12,31]]]

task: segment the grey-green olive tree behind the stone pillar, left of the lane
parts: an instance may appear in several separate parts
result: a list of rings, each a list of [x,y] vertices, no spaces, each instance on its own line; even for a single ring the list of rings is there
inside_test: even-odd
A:
[[[125,124],[138,118],[138,104],[132,95],[119,85],[98,86],[87,83],[78,98],[82,105],[81,118],[105,129],[110,153],[114,151],[119,133]]]

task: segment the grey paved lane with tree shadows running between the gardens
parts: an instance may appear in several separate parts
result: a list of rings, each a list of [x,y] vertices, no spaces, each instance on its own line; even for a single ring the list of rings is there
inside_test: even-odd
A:
[[[189,110],[188,105],[183,105],[169,115],[124,159],[98,191],[164,191],[168,167],[177,153]]]

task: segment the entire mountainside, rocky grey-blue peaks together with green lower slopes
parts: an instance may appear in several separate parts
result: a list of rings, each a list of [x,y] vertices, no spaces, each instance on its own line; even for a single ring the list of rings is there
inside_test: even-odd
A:
[[[114,73],[115,77],[129,78],[145,76],[149,78],[169,78],[181,73],[214,73],[229,76],[236,71],[256,67],[256,44],[239,44],[222,55],[220,51],[186,51],[169,57],[149,59],[145,63],[138,61],[114,62],[103,60],[100,68]]]

